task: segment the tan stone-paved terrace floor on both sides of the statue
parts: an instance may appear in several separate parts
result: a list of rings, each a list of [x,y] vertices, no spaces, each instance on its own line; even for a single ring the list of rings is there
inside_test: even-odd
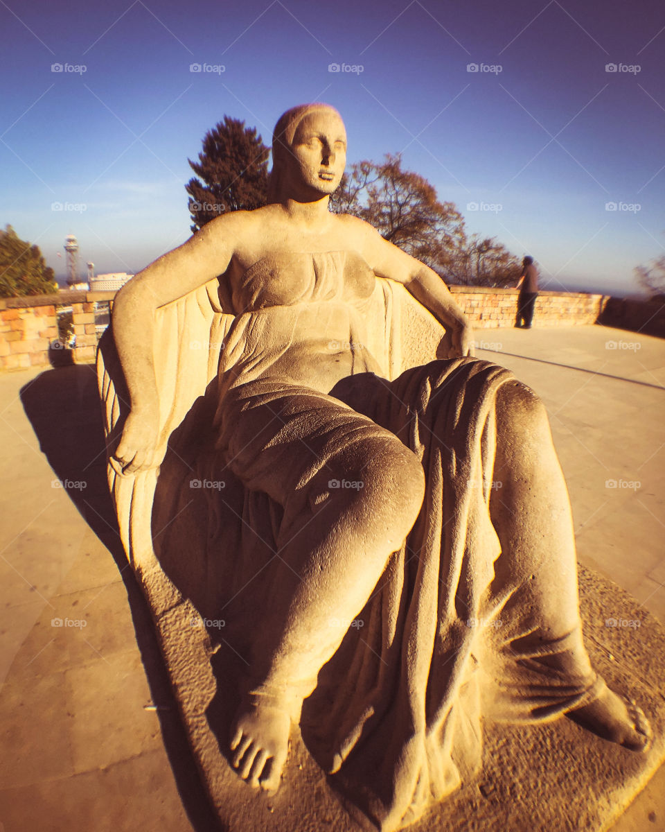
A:
[[[580,561],[665,621],[665,341],[598,326],[476,338],[544,400]],[[91,366],[0,376],[0,832],[209,832],[98,414]],[[661,769],[613,832],[665,829],[663,795]]]

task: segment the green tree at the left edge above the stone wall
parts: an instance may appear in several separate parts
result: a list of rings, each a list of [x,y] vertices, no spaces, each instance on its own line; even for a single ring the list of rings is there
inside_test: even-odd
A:
[[[55,275],[38,245],[17,236],[11,225],[0,230],[0,297],[52,295],[57,292]]]

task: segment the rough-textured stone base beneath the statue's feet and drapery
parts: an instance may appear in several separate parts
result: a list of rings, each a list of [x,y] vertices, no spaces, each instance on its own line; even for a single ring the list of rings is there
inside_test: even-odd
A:
[[[152,572],[144,586],[185,727],[224,828],[229,832],[363,828],[337,801],[297,732],[277,795],[268,798],[239,780],[209,727],[209,719],[228,725],[234,703],[224,701],[219,690],[205,631],[191,626],[196,613],[189,603],[177,601],[163,572]],[[568,719],[544,726],[487,726],[480,775],[410,830],[603,832],[665,760],[665,628],[627,592],[594,572],[580,569],[579,588],[591,661],[608,686],[643,708],[653,730],[651,749],[635,754]],[[611,626],[613,622],[617,625]],[[226,660],[222,646],[213,656],[219,678]]]

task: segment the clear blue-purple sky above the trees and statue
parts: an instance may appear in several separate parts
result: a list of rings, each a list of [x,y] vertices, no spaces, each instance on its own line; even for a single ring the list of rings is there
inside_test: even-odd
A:
[[[310,101],[349,163],[401,152],[547,288],[630,294],[665,251],[663,0],[0,0],[0,42],[0,223],[57,274],[70,233],[81,271],[184,242],[204,133],[269,145]]]

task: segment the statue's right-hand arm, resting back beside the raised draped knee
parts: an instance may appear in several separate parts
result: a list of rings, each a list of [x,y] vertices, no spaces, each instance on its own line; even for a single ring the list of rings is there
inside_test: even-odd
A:
[[[411,295],[451,332],[449,358],[473,355],[473,330],[436,271],[384,240],[378,231],[356,217],[348,217],[362,243],[362,256],[379,277],[401,283]],[[360,224],[360,225],[358,225]]]

